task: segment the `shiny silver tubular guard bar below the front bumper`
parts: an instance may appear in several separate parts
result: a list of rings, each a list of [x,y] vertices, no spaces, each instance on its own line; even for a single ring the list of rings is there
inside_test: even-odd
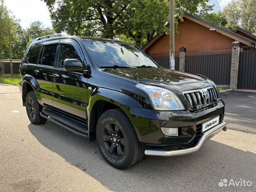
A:
[[[198,151],[204,142],[212,138],[214,135],[219,133],[221,130],[226,131],[228,129],[226,122],[222,122],[219,125],[213,127],[212,129],[205,132],[202,137],[199,139],[198,143],[188,149],[180,150],[170,150],[170,151],[161,151],[161,150],[145,150],[145,155],[154,155],[154,156],[177,156],[177,155],[186,155]]]

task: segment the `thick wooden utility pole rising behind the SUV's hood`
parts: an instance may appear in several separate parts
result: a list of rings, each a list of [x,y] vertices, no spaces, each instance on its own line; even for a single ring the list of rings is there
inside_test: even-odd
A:
[[[170,68],[175,69],[174,48],[174,0],[170,0]]]

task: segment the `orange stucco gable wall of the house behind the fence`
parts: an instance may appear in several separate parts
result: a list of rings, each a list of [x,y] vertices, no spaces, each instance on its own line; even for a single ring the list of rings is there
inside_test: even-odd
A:
[[[231,42],[235,41],[227,38]],[[231,47],[231,42],[228,39],[218,32],[209,31],[207,27],[184,18],[184,21],[178,25],[178,33],[175,33],[175,51],[178,51],[182,46],[187,50]],[[169,35],[163,34],[163,37],[146,51],[149,54],[169,52]]]

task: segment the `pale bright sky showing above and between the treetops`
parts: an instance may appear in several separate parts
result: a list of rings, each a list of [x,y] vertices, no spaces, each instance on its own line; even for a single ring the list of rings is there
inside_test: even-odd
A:
[[[209,4],[215,4],[214,12],[222,10],[231,0],[210,0]],[[21,27],[27,28],[33,21],[41,21],[45,27],[51,27],[52,23],[46,3],[41,0],[5,0],[5,5],[16,18],[21,19]]]

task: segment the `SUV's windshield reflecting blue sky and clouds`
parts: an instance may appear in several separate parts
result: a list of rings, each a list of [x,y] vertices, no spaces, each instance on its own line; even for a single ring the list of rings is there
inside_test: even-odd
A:
[[[100,41],[84,41],[98,67],[158,67],[135,46]]]

